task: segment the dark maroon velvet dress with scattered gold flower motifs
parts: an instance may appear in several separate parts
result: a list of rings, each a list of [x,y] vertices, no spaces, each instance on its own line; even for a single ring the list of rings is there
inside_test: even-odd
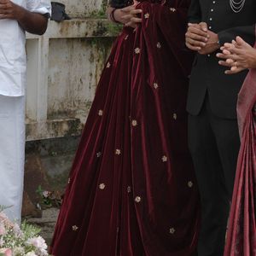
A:
[[[143,1],[113,44],[58,218],[55,256],[190,256],[199,196],[185,111],[189,0]]]

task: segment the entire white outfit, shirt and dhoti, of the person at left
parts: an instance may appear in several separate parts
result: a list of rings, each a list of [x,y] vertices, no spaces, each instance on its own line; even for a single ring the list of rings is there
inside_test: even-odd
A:
[[[13,0],[50,14],[49,0]],[[0,206],[20,221],[25,159],[25,32],[16,20],[0,20]]]

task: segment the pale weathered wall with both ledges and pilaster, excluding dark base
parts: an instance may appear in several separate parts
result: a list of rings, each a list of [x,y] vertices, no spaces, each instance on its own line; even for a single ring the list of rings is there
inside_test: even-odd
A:
[[[113,28],[98,18],[50,21],[43,37],[27,35],[27,141],[80,134]]]

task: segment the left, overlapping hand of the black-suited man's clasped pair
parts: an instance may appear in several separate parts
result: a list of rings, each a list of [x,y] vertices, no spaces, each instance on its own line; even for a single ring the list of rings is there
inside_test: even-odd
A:
[[[186,32],[186,45],[189,49],[199,51],[203,49],[208,42],[207,23],[201,22],[199,24],[188,24],[188,31]]]

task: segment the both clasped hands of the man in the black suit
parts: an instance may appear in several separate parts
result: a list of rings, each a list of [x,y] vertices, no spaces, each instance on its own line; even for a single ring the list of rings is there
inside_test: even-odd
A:
[[[211,54],[219,48],[218,34],[208,29],[207,23],[189,23],[186,32],[186,45],[201,55]]]

